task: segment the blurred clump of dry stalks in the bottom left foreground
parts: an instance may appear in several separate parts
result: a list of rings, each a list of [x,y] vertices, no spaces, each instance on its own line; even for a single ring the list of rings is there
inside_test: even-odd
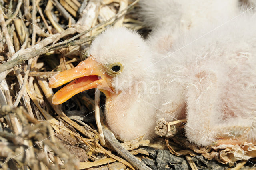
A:
[[[54,131],[49,124],[30,117],[22,107],[14,108],[6,105],[0,109],[0,117],[6,117],[9,114],[14,114],[18,118],[22,124],[22,131],[19,134],[0,132],[0,137],[6,139],[0,142],[0,157],[6,158],[1,162],[3,168],[8,168],[7,162],[12,161],[19,166],[27,166],[31,170],[42,169],[44,166],[55,170],[55,164],[70,170],[78,169],[78,160],[55,139]],[[45,148],[46,152],[39,148]],[[65,164],[58,164],[56,160],[48,162],[50,150],[54,151]]]

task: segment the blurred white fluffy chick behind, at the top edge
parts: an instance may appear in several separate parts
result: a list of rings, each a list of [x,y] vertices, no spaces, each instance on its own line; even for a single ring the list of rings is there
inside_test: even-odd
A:
[[[188,30],[206,22],[227,21],[237,14],[238,5],[238,0],[140,0],[140,15],[153,29],[171,26]]]

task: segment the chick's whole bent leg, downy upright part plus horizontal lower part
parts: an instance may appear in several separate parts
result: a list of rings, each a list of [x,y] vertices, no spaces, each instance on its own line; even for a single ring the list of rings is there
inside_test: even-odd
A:
[[[215,72],[205,70],[191,78],[186,89],[186,136],[197,145],[241,144],[250,131],[248,120],[222,120],[220,84]]]

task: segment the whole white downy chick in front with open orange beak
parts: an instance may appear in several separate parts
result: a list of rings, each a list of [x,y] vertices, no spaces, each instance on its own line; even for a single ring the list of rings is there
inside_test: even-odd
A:
[[[159,118],[186,118],[186,136],[197,145],[255,142],[255,19],[239,16],[199,39],[217,22],[191,27],[164,52],[150,48],[156,31],[145,42],[134,31],[108,28],[92,42],[90,58],[50,80],[55,88],[78,78],[53,103],[99,88],[106,122],[123,141],[154,138]]]

